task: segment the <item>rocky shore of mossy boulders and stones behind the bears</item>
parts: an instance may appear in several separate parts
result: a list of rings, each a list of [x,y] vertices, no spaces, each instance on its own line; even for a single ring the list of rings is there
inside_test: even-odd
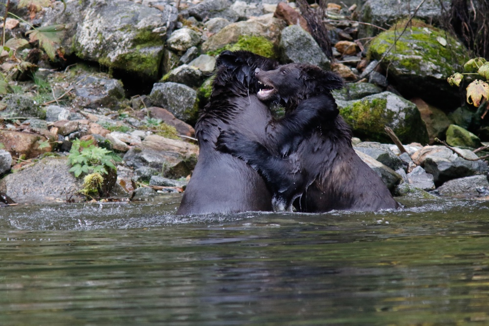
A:
[[[41,52],[30,76],[0,57],[0,203],[183,192],[199,154],[193,126],[223,49],[340,74],[347,84],[334,97],[354,148],[395,196],[487,199],[489,167],[479,159],[487,152],[476,150],[489,141],[485,107],[470,107],[464,89],[446,82],[469,51],[441,29],[449,1],[425,1],[405,28],[419,3],[311,5],[327,27],[329,56],[295,2],[67,0],[66,9],[53,1],[35,12],[10,1],[18,18],[9,16],[6,40],[32,26],[64,31],[53,58],[40,41],[16,49],[22,60]],[[90,188],[97,166],[105,183]]]

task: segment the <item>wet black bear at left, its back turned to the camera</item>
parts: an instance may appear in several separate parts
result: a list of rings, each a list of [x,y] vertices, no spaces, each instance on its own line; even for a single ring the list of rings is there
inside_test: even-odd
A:
[[[208,103],[196,123],[199,158],[185,189],[178,215],[271,211],[271,193],[265,180],[243,160],[216,149],[223,130],[238,130],[247,139],[269,147],[293,147],[296,139],[312,128],[330,107],[303,101],[294,114],[276,120],[267,101],[257,93],[255,69],[273,70],[275,60],[248,51],[223,51],[216,61],[215,78]]]

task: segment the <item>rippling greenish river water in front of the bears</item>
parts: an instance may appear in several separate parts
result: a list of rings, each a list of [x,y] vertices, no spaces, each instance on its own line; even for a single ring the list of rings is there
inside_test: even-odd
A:
[[[489,202],[176,217],[0,208],[0,325],[489,325]]]

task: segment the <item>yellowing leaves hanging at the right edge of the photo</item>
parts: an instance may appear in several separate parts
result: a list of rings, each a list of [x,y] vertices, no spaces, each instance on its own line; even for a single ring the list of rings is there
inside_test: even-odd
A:
[[[474,58],[467,61],[464,65],[464,70],[475,71],[477,73],[455,73],[447,78],[448,84],[459,86],[460,82],[464,78],[464,75],[480,75],[486,79],[486,81],[476,79],[467,86],[467,103],[472,104],[474,107],[479,107],[482,101],[489,100],[489,62],[484,58]]]

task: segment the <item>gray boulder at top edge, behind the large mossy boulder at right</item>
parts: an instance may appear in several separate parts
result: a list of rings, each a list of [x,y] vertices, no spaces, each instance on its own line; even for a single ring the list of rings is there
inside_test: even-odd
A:
[[[449,0],[426,0],[416,12],[416,18],[427,23],[440,22],[442,18],[442,5],[445,9],[450,8]],[[398,1],[398,0],[367,0],[362,7],[362,21],[369,22],[384,28],[391,27],[400,18],[414,14],[414,10],[421,0]],[[377,34],[378,29],[366,26],[367,35]]]

